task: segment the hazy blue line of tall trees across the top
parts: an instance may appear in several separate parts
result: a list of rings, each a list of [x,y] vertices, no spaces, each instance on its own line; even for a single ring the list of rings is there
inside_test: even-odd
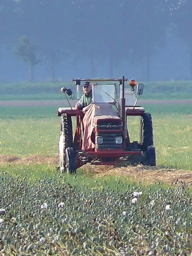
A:
[[[150,79],[151,57],[167,33],[185,40],[191,59],[191,0],[0,0],[0,44],[29,65],[89,59],[91,75],[108,60],[110,77],[120,59],[138,63]],[[2,26],[3,24],[3,26]]]

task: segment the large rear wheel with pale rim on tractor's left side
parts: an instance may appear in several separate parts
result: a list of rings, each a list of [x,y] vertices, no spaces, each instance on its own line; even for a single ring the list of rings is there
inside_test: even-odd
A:
[[[60,172],[66,172],[65,170],[65,150],[68,147],[73,146],[73,133],[72,133],[72,121],[71,116],[63,114],[61,116],[61,125],[59,133],[59,169]]]

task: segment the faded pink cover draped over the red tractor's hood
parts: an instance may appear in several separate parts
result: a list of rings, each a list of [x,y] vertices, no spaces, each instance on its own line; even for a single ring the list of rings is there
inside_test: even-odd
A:
[[[91,135],[94,128],[100,123],[108,122],[113,120],[121,124],[121,118],[118,113],[112,109],[112,104],[106,102],[102,104],[90,104],[89,106],[83,108],[83,127],[84,127],[84,136],[82,142],[82,150],[93,150],[95,144],[91,140]]]

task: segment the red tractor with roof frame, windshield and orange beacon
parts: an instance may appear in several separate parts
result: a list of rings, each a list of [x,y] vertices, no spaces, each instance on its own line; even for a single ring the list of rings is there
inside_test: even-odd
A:
[[[58,109],[58,116],[61,116],[58,146],[60,171],[73,173],[86,163],[116,165],[126,161],[155,166],[152,117],[142,106],[137,105],[144,85],[131,79],[129,84],[132,90],[126,93],[127,79],[124,76],[120,79],[89,78],[73,81],[77,86],[78,100],[81,81],[91,82],[92,103],[82,110],[76,109],[69,102],[68,97],[73,94],[71,89],[61,88],[70,107]],[[133,92],[136,84],[137,98]],[[76,122],[72,122],[72,116],[76,117]],[[139,141],[130,141],[127,127],[129,116],[141,117]],[[74,133],[73,125],[76,127]]]

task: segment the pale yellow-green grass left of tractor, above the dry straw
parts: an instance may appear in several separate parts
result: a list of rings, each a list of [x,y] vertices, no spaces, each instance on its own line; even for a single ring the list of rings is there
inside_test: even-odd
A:
[[[57,153],[59,118],[2,120],[0,154],[29,156]]]

